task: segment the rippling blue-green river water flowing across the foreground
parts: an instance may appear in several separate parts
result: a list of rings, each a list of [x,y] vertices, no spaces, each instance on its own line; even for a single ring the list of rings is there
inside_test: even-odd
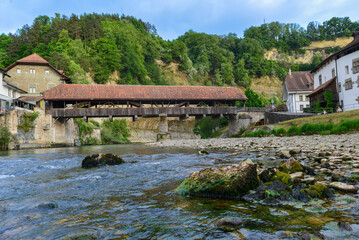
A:
[[[102,152],[119,154],[126,163],[81,168],[86,155]],[[96,239],[298,239],[296,233],[302,231],[320,231],[326,239],[359,238],[353,196],[341,196],[335,206],[326,203],[318,211],[186,198],[174,191],[185,177],[206,167],[246,158],[278,164],[269,160],[270,154],[198,155],[195,150],[141,144],[0,152],[0,239],[62,239],[85,233]],[[39,207],[44,203],[56,207]],[[220,230],[214,223],[223,217],[239,218],[243,225]],[[338,229],[343,218],[352,221],[352,231]]]

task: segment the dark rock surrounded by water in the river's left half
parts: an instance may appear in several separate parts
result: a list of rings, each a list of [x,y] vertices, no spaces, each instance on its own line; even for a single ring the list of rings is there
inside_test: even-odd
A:
[[[111,153],[101,153],[86,156],[85,159],[82,160],[81,167],[92,168],[103,165],[119,165],[124,162],[125,161],[120,156]]]

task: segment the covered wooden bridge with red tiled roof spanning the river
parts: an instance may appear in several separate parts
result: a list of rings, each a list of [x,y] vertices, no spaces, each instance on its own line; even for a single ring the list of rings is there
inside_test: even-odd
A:
[[[246,96],[233,87],[62,84],[43,93],[54,118],[236,115]]]

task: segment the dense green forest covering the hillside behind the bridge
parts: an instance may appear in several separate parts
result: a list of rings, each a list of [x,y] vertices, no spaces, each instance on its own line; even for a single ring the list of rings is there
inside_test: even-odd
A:
[[[164,40],[155,26],[131,16],[83,14],[39,16],[31,26],[15,34],[0,35],[0,67],[37,53],[64,70],[74,83],[99,84],[113,79],[118,84],[173,84],[159,65],[176,63],[191,84],[250,86],[251,78],[276,76],[284,79],[288,68],[310,70],[321,61],[293,65],[264,58],[265,49],[292,54],[312,41],[333,40],[359,31],[359,22],[337,18],[323,24],[272,22],[250,27],[244,38],[189,30],[177,39]]]

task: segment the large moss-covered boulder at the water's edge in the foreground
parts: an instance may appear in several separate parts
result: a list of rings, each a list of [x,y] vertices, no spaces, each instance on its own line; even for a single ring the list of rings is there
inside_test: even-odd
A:
[[[259,185],[257,165],[240,163],[192,173],[177,188],[186,196],[240,198]]]

